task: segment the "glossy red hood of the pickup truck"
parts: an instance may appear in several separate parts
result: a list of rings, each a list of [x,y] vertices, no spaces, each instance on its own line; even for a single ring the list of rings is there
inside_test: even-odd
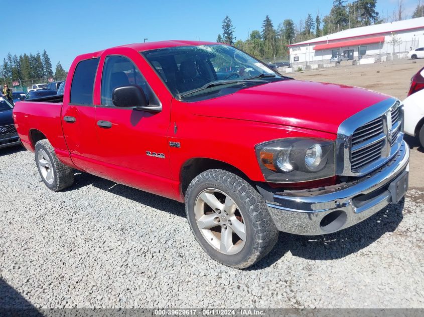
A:
[[[355,113],[390,98],[358,87],[285,80],[189,103],[193,114],[337,133]]]

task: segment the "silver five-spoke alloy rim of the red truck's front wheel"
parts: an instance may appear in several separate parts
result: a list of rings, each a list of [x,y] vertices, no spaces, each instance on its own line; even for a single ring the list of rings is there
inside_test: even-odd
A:
[[[195,218],[208,243],[224,254],[236,254],[246,241],[246,224],[235,202],[224,192],[208,188],[196,198]]]

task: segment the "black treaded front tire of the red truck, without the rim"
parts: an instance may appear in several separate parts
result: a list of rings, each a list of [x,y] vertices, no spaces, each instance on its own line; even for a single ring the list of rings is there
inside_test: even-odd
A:
[[[238,253],[225,254],[214,248],[206,241],[197,225],[196,199],[210,188],[225,193],[238,206],[237,210],[246,227],[244,246]],[[278,230],[263,197],[244,179],[228,171],[210,169],[191,181],[186,191],[186,214],[194,236],[206,253],[214,260],[233,268],[246,268],[259,261],[272,250],[278,239]]]

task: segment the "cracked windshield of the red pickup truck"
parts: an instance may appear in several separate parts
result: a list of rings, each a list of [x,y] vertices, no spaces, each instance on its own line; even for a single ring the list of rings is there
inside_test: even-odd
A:
[[[213,94],[228,86],[236,85],[241,89],[266,83],[264,80],[249,81],[252,77],[282,78],[266,65],[228,45],[180,46],[141,54],[177,98],[188,96],[190,92]]]

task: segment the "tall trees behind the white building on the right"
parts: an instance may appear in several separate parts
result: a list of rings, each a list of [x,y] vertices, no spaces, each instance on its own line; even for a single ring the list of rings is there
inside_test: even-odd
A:
[[[424,17],[424,0],[418,0],[412,18]],[[253,30],[246,40],[234,37],[235,27],[226,16],[222,22],[222,34],[216,41],[233,45],[258,58],[286,57],[290,44],[311,40],[346,29],[369,26],[389,21],[405,19],[403,0],[397,0],[393,15],[384,17],[376,10],[377,0],[334,0],[330,12],[322,16],[308,14],[304,20],[295,23],[292,19],[282,21],[275,28],[269,16],[265,17],[262,29]],[[314,18],[315,16],[315,18]]]

